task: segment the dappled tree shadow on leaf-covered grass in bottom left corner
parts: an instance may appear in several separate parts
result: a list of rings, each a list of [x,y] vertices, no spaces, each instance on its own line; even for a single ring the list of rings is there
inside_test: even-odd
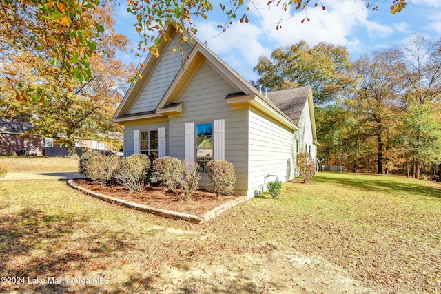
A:
[[[89,232],[91,217],[62,211],[48,214],[34,208],[0,216],[0,273],[5,277],[24,277],[26,281],[24,285],[0,284],[0,293],[8,288],[23,290],[22,286],[27,290],[31,287],[32,292],[65,293],[72,284],[28,284],[28,279],[70,277],[72,271],[81,273],[85,266],[104,256],[132,249],[131,244],[119,238],[119,232]],[[85,232],[81,238],[74,236],[79,229]],[[79,240],[72,241],[73,238]]]

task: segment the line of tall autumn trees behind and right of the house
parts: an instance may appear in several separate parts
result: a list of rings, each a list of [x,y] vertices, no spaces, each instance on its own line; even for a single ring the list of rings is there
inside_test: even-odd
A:
[[[313,85],[325,164],[420,178],[441,167],[440,50],[441,41],[413,36],[350,62],[345,48],[300,41],[261,57],[256,84]]]

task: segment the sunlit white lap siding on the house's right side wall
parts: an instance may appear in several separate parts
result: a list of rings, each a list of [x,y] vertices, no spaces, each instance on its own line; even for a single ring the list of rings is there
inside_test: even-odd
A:
[[[293,134],[271,120],[249,111],[248,197],[267,189],[276,177],[286,182],[294,175],[295,146]]]

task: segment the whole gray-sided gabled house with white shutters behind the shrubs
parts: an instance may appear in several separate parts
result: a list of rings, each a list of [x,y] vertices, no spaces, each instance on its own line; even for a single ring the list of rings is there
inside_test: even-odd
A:
[[[124,125],[124,153],[196,161],[204,171],[212,159],[236,169],[236,193],[257,196],[271,180],[296,177],[296,154],[316,158],[311,87],[260,93],[193,39],[178,46],[174,28],[150,54],[116,110]],[[201,174],[201,187],[208,186]]]

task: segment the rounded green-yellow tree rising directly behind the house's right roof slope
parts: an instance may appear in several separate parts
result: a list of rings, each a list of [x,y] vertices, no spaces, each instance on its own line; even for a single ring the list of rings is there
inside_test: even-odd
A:
[[[314,103],[334,101],[353,82],[346,48],[318,43],[310,48],[305,41],[278,48],[270,59],[260,56],[254,71],[256,85],[272,90],[311,85]]]

